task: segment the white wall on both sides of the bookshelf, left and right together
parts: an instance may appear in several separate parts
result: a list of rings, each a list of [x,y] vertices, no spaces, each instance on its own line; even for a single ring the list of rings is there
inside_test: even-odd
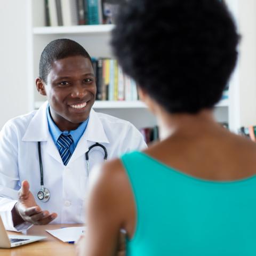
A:
[[[33,0],[39,1],[39,0]],[[238,62],[238,81],[231,102],[229,121],[234,127],[256,124],[256,1],[226,0],[231,9],[238,10],[238,23],[243,36]],[[236,3],[236,4],[235,4]],[[28,93],[27,19],[25,0],[0,0],[0,129],[10,118],[25,114],[31,109]],[[234,6],[233,6],[234,5]],[[27,33],[27,34],[26,34]],[[234,119],[234,120],[233,120]]]

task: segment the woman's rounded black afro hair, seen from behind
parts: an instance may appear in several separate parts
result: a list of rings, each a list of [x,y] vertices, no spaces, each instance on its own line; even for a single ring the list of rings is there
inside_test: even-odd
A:
[[[198,113],[221,99],[239,35],[219,0],[129,0],[111,45],[119,64],[169,113]]]

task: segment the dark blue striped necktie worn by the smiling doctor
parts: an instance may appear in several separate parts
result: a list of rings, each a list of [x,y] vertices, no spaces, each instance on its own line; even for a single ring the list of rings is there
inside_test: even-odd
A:
[[[71,135],[61,134],[59,139],[57,140],[57,144],[59,146],[60,157],[61,157],[64,165],[67,165],[67,163],[72,155],[69,148],[73,142],[74,141],[73,141]]]

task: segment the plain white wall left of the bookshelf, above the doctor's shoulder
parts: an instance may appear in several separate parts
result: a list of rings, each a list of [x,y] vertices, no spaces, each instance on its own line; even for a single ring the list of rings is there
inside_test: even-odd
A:
[[[0,0],[0,129],[28,111],[26,4]]]

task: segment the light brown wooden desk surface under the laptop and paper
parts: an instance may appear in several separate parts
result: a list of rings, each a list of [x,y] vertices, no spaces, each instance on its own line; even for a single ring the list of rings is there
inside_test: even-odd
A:
[[[42,241],[25,244],[12,249],[0,249],[1,256],[75,256],[75,245],[60,241],[56,237],[50,235],[45,229],[57,229],[60,227],[81,227],[80,224],[60,224],[60,225],[44,225],[31,227],[26,235],[46,236]],[[17,235],[21,233],[10,232],[9,235]],[[21,234],[22,235],[22,234]]]

